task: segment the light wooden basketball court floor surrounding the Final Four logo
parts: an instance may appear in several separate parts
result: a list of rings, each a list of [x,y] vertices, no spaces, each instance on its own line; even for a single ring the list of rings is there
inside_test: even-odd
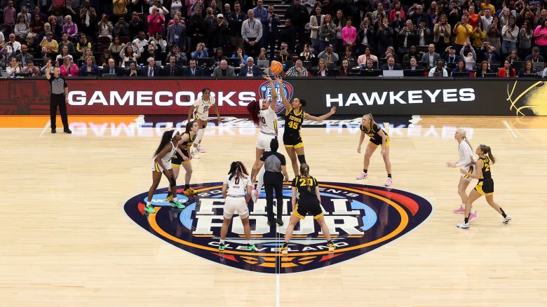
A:
[[[381,199],[387,198],[386,193],[400,193],[420,206],[430,204],[430,212],[417,221],[409,213],[412,210],[393,209],[398,198],[391,198],[393,205],[389,203],[385,211],[368,204],[376,219],[368,228],[370,233],[363,231],[361,242],[374,240],[378,233],[384,236],[381,226],[387,229],[402,223],[403,215],[397,212],[406,212],[408,223],[416,225],[372,250],[348,252],[351,257],[338,263],[328,259],[332,256],[321,256],[322,251],[310,251],[309,261],[314,262],[304,263],[306,251],[301,250],[295,260],[291,253],[285,259],[257,253],[245,256],[246,261],[238,258],[236,264],[226,255],[212,259],[214,245],[209,246],[211,250],[188,252],[180,247],[182,243],[161,238],[154,225],[137,224],[127,213],[129,207],[138,216],[142,199],[135,197],[149,189],[151,157],[163,131],[184,127],[180,117],[69,116],[72,135],[60,133],[59,127],[56,135],[50,134],[48,116],[1,117],[1,304],[546,306],[547,118],[379,118],[391,137],[393,190],[384,187],[386,172],[379,150],[372,156],[369,178],[356,180],[363,168],[363,154],[356,151],[359,115],[314,127],[304,125],[310,174],[320,184],[329,182],[335,191],[337,186],[356,190],[365,184],[368,191],[384,193]],[[238,118],[210,123],[202,143],[207,152],[192,161],[191,184],[203,192],[222,182],[232,161],[241,160],[250,171],[258,133],[249,121]],[[456,227],[463,219],[463,214],[452,213],[460,203],[460,175],[445,163],[458,159],[453,138],[457,128],[466,129],[473,150],[478,144],[492,148],[497,159],[492,167],[494,199],[513,218],[511,223],[502,224],[502,217],[480,198],[474,203],[480,218],[468,230]],[[284,149],[280,152],[286,156]],[[288,172],[292,178],[290,167]],[[184,184],[182,178],[177,181],[179,187]],[[167,185],[163,178],[160,188],[165,191]],[[137,203],[131,205],[133,198]],[[182,240],[186,230],[180,230],[182,216],[177,215],[182,213],[173,213],[169,207],[158,209],[156,226],[161,228],[161,223],[173,218],[173,228],[163,229]],[[189,214],[196,212],[189,210]],[[191,217],[196,223],[196,216]],[[152,221],[144,214],[139,218]],[[283,219],[286,226],[288,214]],[[237,220],[234,217],[234,226]],[[253,231],[264,226],[258,221]],[[218,228],[212,225],[210,238],[215,239]],[[283,229],[271,233],[283,233]],[[337,231],[342,238],[344,229]],[[301,237],[320,238],[318,233]],[[283,235],[253,236],[258,247],[266,239],[274,244],[271,247]],[[349,250],[337,245],[337,250],[344,248]],[[316,254],[323,258],[312,259]],[[285,262],[294,271],[283,266]],[[271,266],[261,266],[266,263]]]

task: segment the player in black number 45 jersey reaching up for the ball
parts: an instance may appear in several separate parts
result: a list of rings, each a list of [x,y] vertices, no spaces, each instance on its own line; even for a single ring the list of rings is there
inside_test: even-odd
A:
[[[304,157],[304,143],[302,143],[302,123],[304,119],[310,121],[324,121],[332,114],[336,113],[336,107],[332,107],[330,112],[321,116],[313,116],[304,112],[302,107],[306,107],[306,100],[295,97],[291,103],[285,97],[285,91],[283,90],[283,80],[276,76],[276,81],[279,83],[279,93],[281,93],[281,100],[285,107],[285,131],[283,131],[283,144],[287,151],[290,162],[292,163],[292,170],[295,172],[295,176],[298,175],[298,162],[306,163]],[[298,159],[298,161],[297,161]]]

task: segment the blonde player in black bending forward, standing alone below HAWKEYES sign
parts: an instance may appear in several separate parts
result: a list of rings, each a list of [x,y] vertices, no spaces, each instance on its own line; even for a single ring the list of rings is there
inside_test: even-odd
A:
[[[357,179],[365,179],[368,177],[368,165],[370,164],[370,157],[372,153],[381,146],[381,156],[384,158],[384,164],[386,165],[386,172],[388,173],[388,179],[386,186],[391,186],[391,161],[389,161],[389,135],[380,128],[380,126],[374,121],[372,114],[363,115],[363,122],[360,125],[361,135],[359,138],[359,146],[357,152],[361,152],[361,145],[365,139],[365,135],[370,137],[365,151],[365,160],[363,162],[363,172],[361,172]]]

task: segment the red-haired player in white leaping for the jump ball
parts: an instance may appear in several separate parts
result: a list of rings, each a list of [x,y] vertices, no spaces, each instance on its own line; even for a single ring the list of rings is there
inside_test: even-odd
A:
[[[258,102],[255,100],[247,105],[247,111],[249,112],[252,122],[260,127],[256,144],[255,164],[252,165],[251,171],[251,179],[253,181],[258,175],[257,188],[252,191],[253,203],[257,202],[260,189],[262,189],[262,185],[264,184],[265,169],[264,166],[262,166],[262,168],[259,168],[258,166],[260,157],[264,151],[270,150],[271,139],[277,138],[276,87],[270,76],[266,75],[264,76],[264,79],[268,80],[270,83],[271,100],[268,100],[266,97],[266,99],[261,99]]]

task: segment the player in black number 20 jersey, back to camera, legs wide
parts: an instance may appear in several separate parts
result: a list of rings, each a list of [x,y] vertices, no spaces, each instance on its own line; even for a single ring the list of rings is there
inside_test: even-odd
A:
[[[317,179],[309,175],[309,166],[306,163],[300,164],[300,175],[297,175],[295,179],[292,179],[291,186],[292,214],[290,216],[289,225],[287,226],[287,232],[285,233],[285,243],[279,249],[281,254],[288,253],[288,245],[290,238],[292,238],[292,231],[295,230],[296,224],[306,217],[308,212],[313,215],[313,219],[315,219],[321,227],[321,231],[323,231],[323,235],[325,235],[325,239],[327,239],[327,247],[329,250],[335,250],[335,243],[332,243],[332,240],[330,240],[330,231],[325,223],[325,217],[323,217]]]

